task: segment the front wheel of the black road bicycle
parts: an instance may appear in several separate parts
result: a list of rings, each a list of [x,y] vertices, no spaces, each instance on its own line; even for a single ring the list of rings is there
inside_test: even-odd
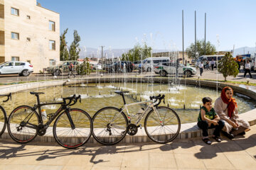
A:
[[[58,144],[68,149],[75,149],[87,142],[92,135],[92,118],[79,108],[70,109],[70,117],[75,128],[72,129],[66,112],[61,113],[53,125],[53,136]]]

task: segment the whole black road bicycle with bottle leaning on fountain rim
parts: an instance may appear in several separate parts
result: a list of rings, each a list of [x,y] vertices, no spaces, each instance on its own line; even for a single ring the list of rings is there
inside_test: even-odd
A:
[[[53,136],[60,146],[73,149],[84,145],[90,139],[93,128],[92,118],[79,108],[70,108],[78,99],[81,102],[80,95],[63,98],[63,102],[40,103],[39,94],[44,93],[30,92],[30,94],[36,96],[37,104],[33,107],[18,106],[9,115],[7,128],[13,140],[27,143],[37,135],[45,135],[55,118],[55,123],[50,128],[53,129]],[[41,107],[47,105],[60,105],[60,108],[55,113],[48,114],[47,122],[43,123]]]

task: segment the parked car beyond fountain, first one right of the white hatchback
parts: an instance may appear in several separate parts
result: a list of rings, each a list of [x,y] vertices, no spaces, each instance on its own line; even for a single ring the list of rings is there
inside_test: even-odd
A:
[[[48,67],[46,69],[46,72],[53,74],[53,76],[59,76],[62,73],[68,73],[69,71],[69,65],[72,63],[74,65],[74,73],[76,72],[76,67],[78,66],[79,62],[78,61],[65,61],[62,62],[61,64],[55,65]]]

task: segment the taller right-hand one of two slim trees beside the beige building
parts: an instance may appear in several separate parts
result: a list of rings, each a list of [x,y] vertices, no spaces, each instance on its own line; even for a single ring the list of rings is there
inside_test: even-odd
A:
[[[79,58],[79,52],[80,52],[80,47],[79,47],[79,42],[81,40],[80,36],[78,35],[78,31],[74,30],[74,40],[70,45],[70,60],[78,60]]]

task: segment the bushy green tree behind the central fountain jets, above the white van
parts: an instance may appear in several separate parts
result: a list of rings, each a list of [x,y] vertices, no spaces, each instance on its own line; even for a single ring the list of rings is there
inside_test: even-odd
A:
[[[129,52],[122,54],[122,61],[138,61],[138,60],[144,60],[147,57],[151,57],[151,47],[148,47],[146,44],[144,44],[144,47],[141,47],[140,45],[134,45],[134,48],[129,50]]]

